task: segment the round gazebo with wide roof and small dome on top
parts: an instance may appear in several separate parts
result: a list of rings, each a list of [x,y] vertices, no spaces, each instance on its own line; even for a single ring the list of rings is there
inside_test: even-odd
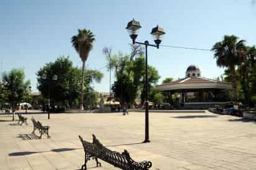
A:
[[[198,66],[190,65],[185,78],[163,83],[157,89],[169,96],[170,104],[180,109],[208,109],[229,102],[228,92],[232,90],[232,84],[204,78]],[[173,99],[173,94],[176,94],[176,99]]]

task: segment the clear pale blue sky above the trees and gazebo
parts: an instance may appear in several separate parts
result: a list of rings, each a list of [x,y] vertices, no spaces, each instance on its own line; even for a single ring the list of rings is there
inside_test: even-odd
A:
[[[2,71],[24,68],[27,79],[36,89],[35,73],[54,61],[58,55],[70,55],[75,66],[81,66],[70,38],[77,29],[90,29],[96,35],[94,49],[86,65],[102,68],[104,47],[129,53],[129,35],[125,29],[134,17],[142,29],[138,40],[153,42],[152,27],[160,25],[167,33],[163,45],[210,49],[223,35],[237,35],[256,45],[256,4],[252,0],[181,0],[181,1],[19,1],[0,2],[0,62]],[[149,48],[149,65],[164,78],[183,78],[189,65],[198,65],[202,75],[216,78],[223,73],[217,68],[211,51]],[[109,73],[94,84],[98,91],[108,91]]]

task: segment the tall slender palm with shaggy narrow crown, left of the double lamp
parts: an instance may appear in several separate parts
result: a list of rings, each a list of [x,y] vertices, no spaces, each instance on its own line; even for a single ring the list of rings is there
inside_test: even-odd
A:
[[[86,29],[78,29],[78,34],[71,37],[71,43],[83,62],[80,110],[83,110],[83,90],[85,86],[85,61],[89,56],[89,51],[93,49],[93,42],[95,40],[94,37],[95,36],[91,32],[91,30]]]

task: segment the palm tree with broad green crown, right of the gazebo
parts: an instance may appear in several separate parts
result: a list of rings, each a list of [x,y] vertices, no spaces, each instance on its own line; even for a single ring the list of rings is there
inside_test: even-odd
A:
[[[217,66],[226,67],[231,73],[235,104],[238,102],[235,66],[239,65],[238,51],[245,48],[244,43],[245,40],[239,40],[239,37],[236,37],[235,35],[224,35],[224,39],[221,42],[215,43],[211,49],[214,51],[214,58],[217,60]]]

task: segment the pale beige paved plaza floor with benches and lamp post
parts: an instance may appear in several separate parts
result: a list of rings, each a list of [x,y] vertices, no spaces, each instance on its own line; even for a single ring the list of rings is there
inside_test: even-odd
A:
[[[25,115],[25,114],[24,114]],[[51,138],[31,135],[30,117],[50,125]],[[152,161],[153,170],[256,169],[256,123],[230,115],[150,113],[150,143],[144,140],[142,112],[112,114],[27,114],[29,125],[16,125],[0,114],[0,169],[80,169],[84,151],[78,135],[92,134],[111,150],[128,150],[135,161]],[[117,169],[102,163],[89,169]]]

